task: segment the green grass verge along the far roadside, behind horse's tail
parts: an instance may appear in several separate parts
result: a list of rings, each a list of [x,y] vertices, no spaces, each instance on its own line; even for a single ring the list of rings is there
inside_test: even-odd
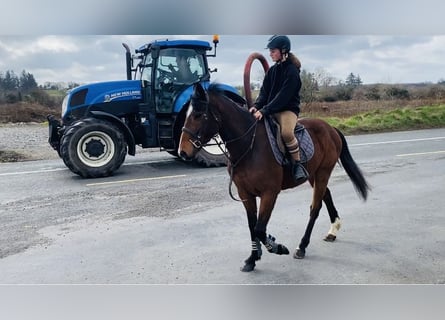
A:
[[[375,110],[347,118],[322,117],[345,134],[445,127],[445,105]]]

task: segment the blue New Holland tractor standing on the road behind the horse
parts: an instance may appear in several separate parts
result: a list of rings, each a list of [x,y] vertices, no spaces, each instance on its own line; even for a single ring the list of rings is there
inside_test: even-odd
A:
[[[92,83],[72,89],[62,103],[62,117],[48,116],[49,143],[65,165],[85,178],[115,172],[136,146],[160,148],[177,156],[187,106],[195,83],[210,84],[207,57],[216,56],[218,37],[163,40],[131,54],[126,49],[127,80]],[[223,85],[233,99],[245,103],[237,90]],[[205,146],[195,162],[205,167],[226,165],[216,146]]]

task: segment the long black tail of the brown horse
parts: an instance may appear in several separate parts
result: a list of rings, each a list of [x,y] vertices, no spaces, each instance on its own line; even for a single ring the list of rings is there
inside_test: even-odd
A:
[[[363,176],[362,171],[352,158],[351,153],[349,152],[348,143],[346,142],[345,136],[337,128],[335,128],[335,130],[337,130],[338,135],[340,136],[342,142],[342,148],[340,153],[341,164],[345,169],[346,173],[348,174],[349,178],[351,179],[354,188],[359,194],[359,196],[361,196],[363,200],[366,200],[366,198],[368,197],[368,190],[370,190],[368,182],[366,182],[366,179]]]

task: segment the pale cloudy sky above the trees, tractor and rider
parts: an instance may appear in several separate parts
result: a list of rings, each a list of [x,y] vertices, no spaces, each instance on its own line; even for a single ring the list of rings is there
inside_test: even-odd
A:
[[[270,35],[220,35],[216,58],[218,68],[212,80],[241,85],[244,64],[252,52],[260,52],[270,63],[264,49]],[[359,75],[365,84],[417,83],[445,79],[445,35],[296,35],[289,36],[292,51],[308,72],[323,70],[337,80],[349,73]],[[89,83],[125,78],[125,50],[132,52],[155,39],[201,39],[211,42],[212,35],[0,35],[0,72],[22,70],[32,73],[38,84],[50,82]],[[252,81],[261,76],[259,63]]]

